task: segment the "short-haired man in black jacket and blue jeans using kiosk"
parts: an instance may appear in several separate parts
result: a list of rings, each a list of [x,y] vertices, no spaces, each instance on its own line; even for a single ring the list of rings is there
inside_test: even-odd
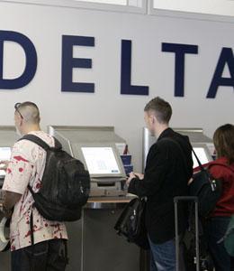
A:
[[[146,226],[148,240],[157,269],[175,270],[174,197],[187,195],[187,182],[192,177],[192,146],[187,136],[175,133],[168,123],[172,108],[162,98],[153,98],[144,109],[145,122],[157,142],[148,152],[145,173],[130,173],[127,180],[130,193],[146,196]],[[179,233],[187,222],[186,208],[178,206]]]

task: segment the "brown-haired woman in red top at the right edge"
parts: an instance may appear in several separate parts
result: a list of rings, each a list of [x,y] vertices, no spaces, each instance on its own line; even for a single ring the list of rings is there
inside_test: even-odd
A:
[[[213,135],[217,159],[208,167],[211,175],[222,182],[222,193],[215,210],[205,227],[208,246],[216,271],[234,270],[233,258],[229,257],[223,238],[234,214],[234,126],[226,124],[216,129]]]

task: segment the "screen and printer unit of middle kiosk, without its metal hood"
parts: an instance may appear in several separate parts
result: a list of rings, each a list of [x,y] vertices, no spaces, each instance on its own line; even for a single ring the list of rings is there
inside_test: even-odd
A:
[[[80,143],[74,145],[77,157],[91,176],[91,196],[121,196],[126,180],[120,154],[114,144]]]

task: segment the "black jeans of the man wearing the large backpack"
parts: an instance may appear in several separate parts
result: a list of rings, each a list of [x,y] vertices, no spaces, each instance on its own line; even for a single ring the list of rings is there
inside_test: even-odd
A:
[[[51,239],[12,251],[12,271],[64,271],[67,240]]]

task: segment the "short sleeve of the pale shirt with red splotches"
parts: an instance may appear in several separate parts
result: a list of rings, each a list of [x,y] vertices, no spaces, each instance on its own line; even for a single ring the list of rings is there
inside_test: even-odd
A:
[[[10,163],[6,169],[3,190],[23,194],[31,179],[33,164],[19,143],[13,147]]]

